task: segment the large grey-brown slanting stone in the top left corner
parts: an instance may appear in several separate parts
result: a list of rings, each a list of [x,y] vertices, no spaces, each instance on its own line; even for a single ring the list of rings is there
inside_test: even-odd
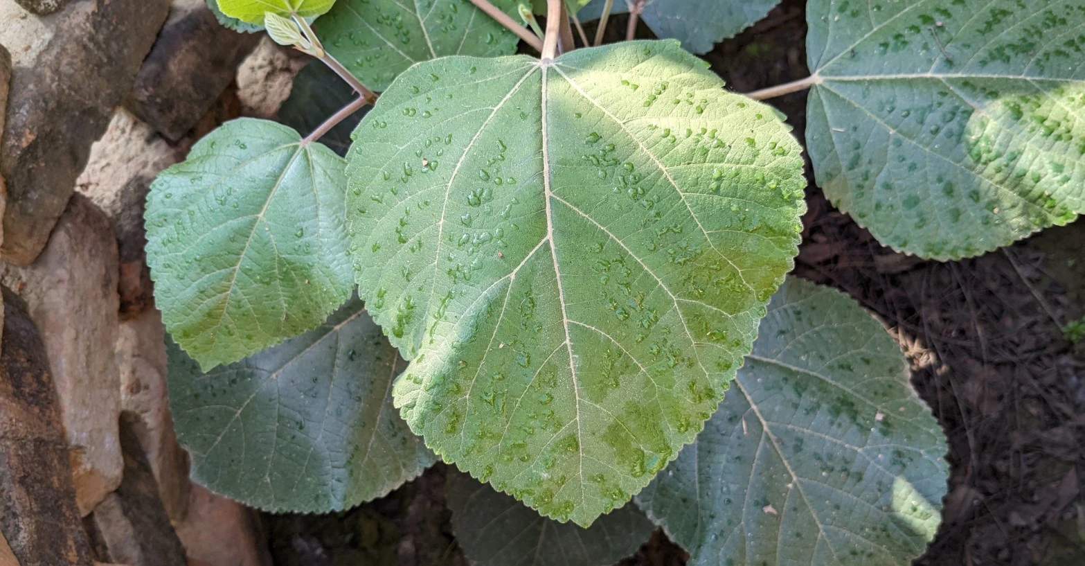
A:
[[[44,248],[168,11],[169,0],[72,0],[35,17],[0,0],[0,45],[13,63],[0,142],[9,197],[0,257],[28,265]]]

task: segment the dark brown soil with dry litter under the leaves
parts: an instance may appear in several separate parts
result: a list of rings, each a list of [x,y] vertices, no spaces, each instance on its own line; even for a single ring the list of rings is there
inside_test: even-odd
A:
[[[625,23],[612,21],[612,39]],[[739,92],[802,78],[805,27],[803,2],[787,0],[705,59]],[[771,102],[802,139],[806,93]],[[1061,330],[1085,305],[1085,222],[981,257],[924,262],[881,247],[826,201],[808,164],[807,174],[795,274],[848,293],[892,329],[949,438],[944,524],[916,564],[1085,564],[1085,344]],[[276,564],[467,564],[444,471],[345,514],[267,516]],[[685,562],[658,531],[621,564]]]

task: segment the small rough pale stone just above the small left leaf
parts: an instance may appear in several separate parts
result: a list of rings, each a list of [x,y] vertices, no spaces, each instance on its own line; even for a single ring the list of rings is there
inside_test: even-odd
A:
[[[260,34],[260,36],[266,36]],[[252,54],[238,68],[238,98],[241,113],[257,118],[273,118],[279,106],[290,98],[294,76],[311,61],[308,55],[284,48],[263,37]]]

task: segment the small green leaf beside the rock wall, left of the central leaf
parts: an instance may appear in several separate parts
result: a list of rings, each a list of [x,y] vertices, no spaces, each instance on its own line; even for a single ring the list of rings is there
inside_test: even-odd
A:
[[[155,179],[155,304],[205,368],[309,330],[350,295],[343,167],[286,126],[240,118]]]

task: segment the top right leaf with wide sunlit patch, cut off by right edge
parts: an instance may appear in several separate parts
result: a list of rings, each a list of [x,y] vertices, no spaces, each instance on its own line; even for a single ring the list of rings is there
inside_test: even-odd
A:
[[[879,241],[976,255],[1085,212],[1083,0],[813,0],[806,138]]]

